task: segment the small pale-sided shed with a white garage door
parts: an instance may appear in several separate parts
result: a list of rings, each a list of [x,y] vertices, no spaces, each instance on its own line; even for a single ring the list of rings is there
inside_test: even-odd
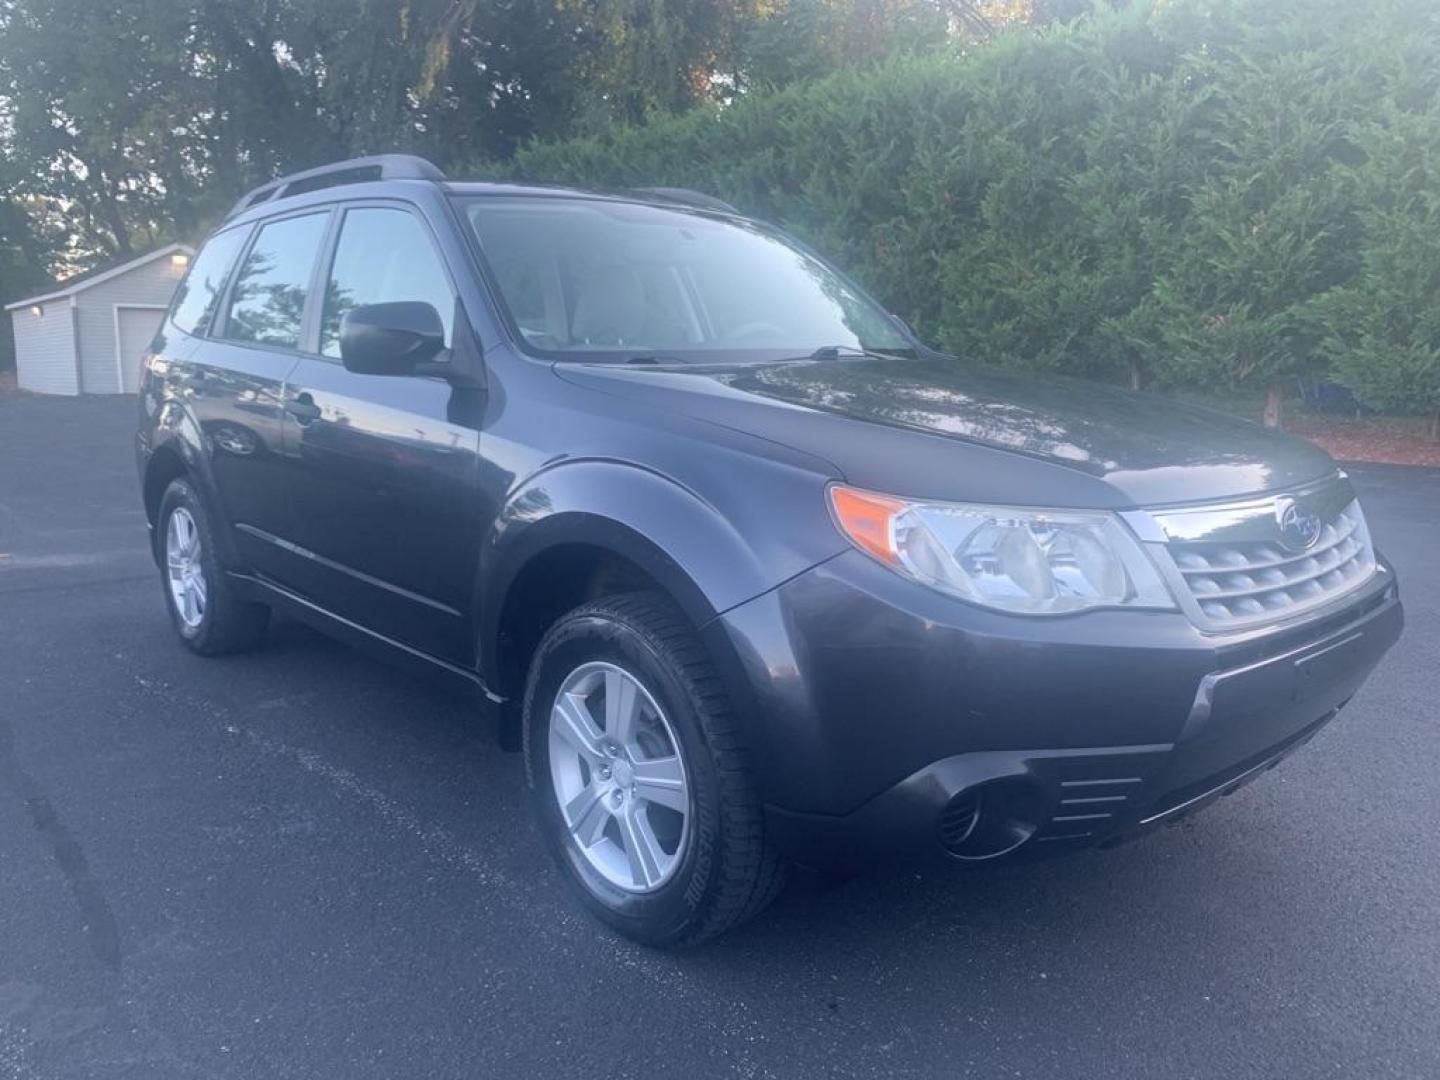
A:
[[[20,389],[135,393],[140,357],[193,253],[171,243],[6,304]]]

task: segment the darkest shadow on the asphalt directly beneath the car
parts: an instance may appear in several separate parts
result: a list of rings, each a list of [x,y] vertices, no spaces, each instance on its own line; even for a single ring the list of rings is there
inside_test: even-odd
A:
[[[439,825],[475,845],[504,835],[511,845],[508,861],[544,878],[547,887],[562,884],[530,825],[518,755],[495,744],[488,721],[477,721],[477,708],[464,694],[377,665],[288,621],[276,624],[259,658],[323,668],[327,684],[346,685],[357,700],[393,703],[396,711],[341,708],[337,716],[343,724],[369,729],[351,733],[367,743],[379,740],[379,757],[389,762],[397,783],[423,782],[426,812],[438,815]],[[468,798],[445,798],[468,796],[477,786],[497,796],[487,804],[482,822]],[[1283,818],[1257,812],[1264,801],[1256,785],[1194,819],[1112,851],[973,867],[940,860],[877,867],[847,878],[796,871],[773,907],[752,924],[668,953],[667,962],[721,981],[742,971],[752,976],[769,971],[776,978],[783,971],[793,978],[799,953],[816,972],[864,972],[874,984],[883,972],[896,979],[926,972],[948,978],[958,962],[972,975],[998,968],[1012,972],[1017,965],[1032,968],[1037,979],[1058,978],[1067,966],[1093,975],[1093,965],[1117,950],[1129,953],[1132,969],[1153,965],[1161,973],[1179,950],[1201,968],[1233,971],[1233,958],[1215,956],[1207,946],[1214,920],[1247,890],[1263,894],[1277,878],[1303,873],[1284,865],[1286,827]],[[579,913],[567,896],[556,894],[553,903]],[[1295,907],[1295,919],[1312,924],[1329,910],[1316,900],[1308,912],[1305,897],[1293,893],[1286,903]],[[582,937],[609,936],[579,914]]]

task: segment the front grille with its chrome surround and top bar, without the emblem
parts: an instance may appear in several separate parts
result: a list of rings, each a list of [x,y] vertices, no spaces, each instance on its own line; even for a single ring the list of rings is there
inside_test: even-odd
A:
[[[1282,540],[1279,504],[1286,500],[1320,518],[1319,537],[1308,550],[1290,550]],[[1125,517],[1181,608],[1207,631],[1293,619],[1364,585],[1377,569],[1365,516],[1344,474],[1246,503]]]

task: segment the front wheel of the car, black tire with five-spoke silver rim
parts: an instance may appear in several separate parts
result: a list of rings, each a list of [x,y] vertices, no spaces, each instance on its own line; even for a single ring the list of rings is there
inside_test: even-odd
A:
[[[636,684],[632,696],[622,675]],[[638,706],[634,723],[613,723],[612,732],[606,713],[616,687],[616,701]],[[557,713],[562,690],[567,704]],[[577,703],[583,708],[566,711]],[[618,704],[616,714],[622,711]],[[595,727],[576,737],[564,716],[589,716]],[[585,906],[619,933],[649,946],[694,945],[757,914],[779,893],[783,864],[766,841],[727,696],[696,632],[665,596],[612,596],[562,616],[531,660],[523,729],[546,844]],[[612,736],[631,729],[638,734],[616,753]],[[590,736],[600,749],[579,749]],[[590,802],[595,792],[599,809]],[[576,829],[564,805],[576,808]],[[685,811],[677,827],[680,805]],[[635,840],[645,832],[655,842]],[[635,857],[635,848],[648,848],[654,860]]]

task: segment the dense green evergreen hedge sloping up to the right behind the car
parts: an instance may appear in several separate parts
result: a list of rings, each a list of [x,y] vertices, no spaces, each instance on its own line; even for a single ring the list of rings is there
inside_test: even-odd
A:
[[[927,340],[1440,413],[1440,6],[1153,0],[491,167],[719,194]]]

